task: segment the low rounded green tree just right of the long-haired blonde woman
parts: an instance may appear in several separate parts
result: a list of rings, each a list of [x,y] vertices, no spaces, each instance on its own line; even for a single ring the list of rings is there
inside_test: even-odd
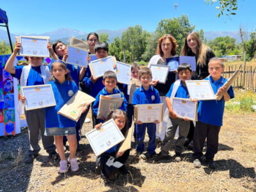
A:
[[[210,40],[208,45],[218,57],[230,54],[237,49],[236,39],[229,36],[218,36],[214,40]]]

